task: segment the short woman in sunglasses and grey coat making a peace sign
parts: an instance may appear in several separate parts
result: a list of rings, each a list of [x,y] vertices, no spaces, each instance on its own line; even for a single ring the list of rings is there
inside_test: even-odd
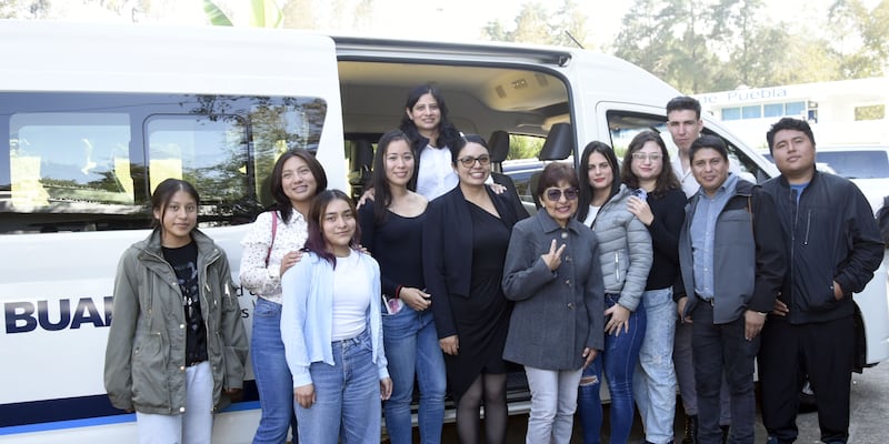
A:
[[[526,443],[571,441],[580,375],[605,345],[598,241],[575,219],[578,186],[573,168],[548,164],[537,185],[546,211],[512,228],[507,251],[503,293],[516,306],[503,357],[528,376]]]

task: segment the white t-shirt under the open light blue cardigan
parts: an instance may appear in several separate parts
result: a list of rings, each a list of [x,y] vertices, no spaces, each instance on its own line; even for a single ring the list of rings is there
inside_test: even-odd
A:
[[[342,341],[358,336],[367,329],[370,309],[370,276],[361,266],[357,251],[348,258],[337,258],[333,270],[333,323],[330,340]],[[377,297],[380,295],[378,294]]]

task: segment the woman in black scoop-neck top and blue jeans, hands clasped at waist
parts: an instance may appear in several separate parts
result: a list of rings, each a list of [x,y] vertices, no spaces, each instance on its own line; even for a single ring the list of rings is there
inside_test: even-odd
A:
[[[392,444],[412,442],[410,403],[419,381],[421,443],[439,443],[444,418],[444,360],[423,284],[422,229],[427,200],[408,190],[416,158],[408,137],[389,131],[373,158],[376,196],[358,212],[361,243],[380,264],[383,344],[392,396],[383,405]]]

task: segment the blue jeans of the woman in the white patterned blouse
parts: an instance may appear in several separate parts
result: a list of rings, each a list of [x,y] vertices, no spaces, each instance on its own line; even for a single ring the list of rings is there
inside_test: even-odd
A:
[[[253,444],[280,444],[293,426],[293,379],[284,359],[281,341],[281,304],[257,297],[253,309],[253,333],[250,337],[250,363],[257,379],[262,417],[253,435]],[[296,442],[296,438],[294,438]]]

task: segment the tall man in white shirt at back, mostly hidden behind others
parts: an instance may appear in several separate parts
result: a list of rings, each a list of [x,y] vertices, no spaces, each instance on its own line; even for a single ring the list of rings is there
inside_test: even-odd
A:
[[[689,160],[691,143],[698,140],[703,130],[700,102],[688,95],[680,95],[667,102],[667,130],[670,131],[673,144],[679,150],[670,163],[677,179],[682,184],[682,191],[686,196],[691,198],[700,189],[700,184],[698,184],[691,172],[691,162]],[[732,163],[729,163],[729,171],[739,175],[738,169]],[[682,289],[675,289],[673,296],[677,301],[682,294],[685,294]],[[691,356],[691,323],[685,322],[681,315],[676,324],[673,364],[676,366],[676,380],[679,384],[679,396],[682,400],[682,407],[686,413],[682,444],[697,444],[698,395],[695,392],[695,367]],[[723,431],[728,432],[731,424],[731,415],[729,414],[729,391],[726,383],[722,384],[720,398],[721,415],[719,424]]]

